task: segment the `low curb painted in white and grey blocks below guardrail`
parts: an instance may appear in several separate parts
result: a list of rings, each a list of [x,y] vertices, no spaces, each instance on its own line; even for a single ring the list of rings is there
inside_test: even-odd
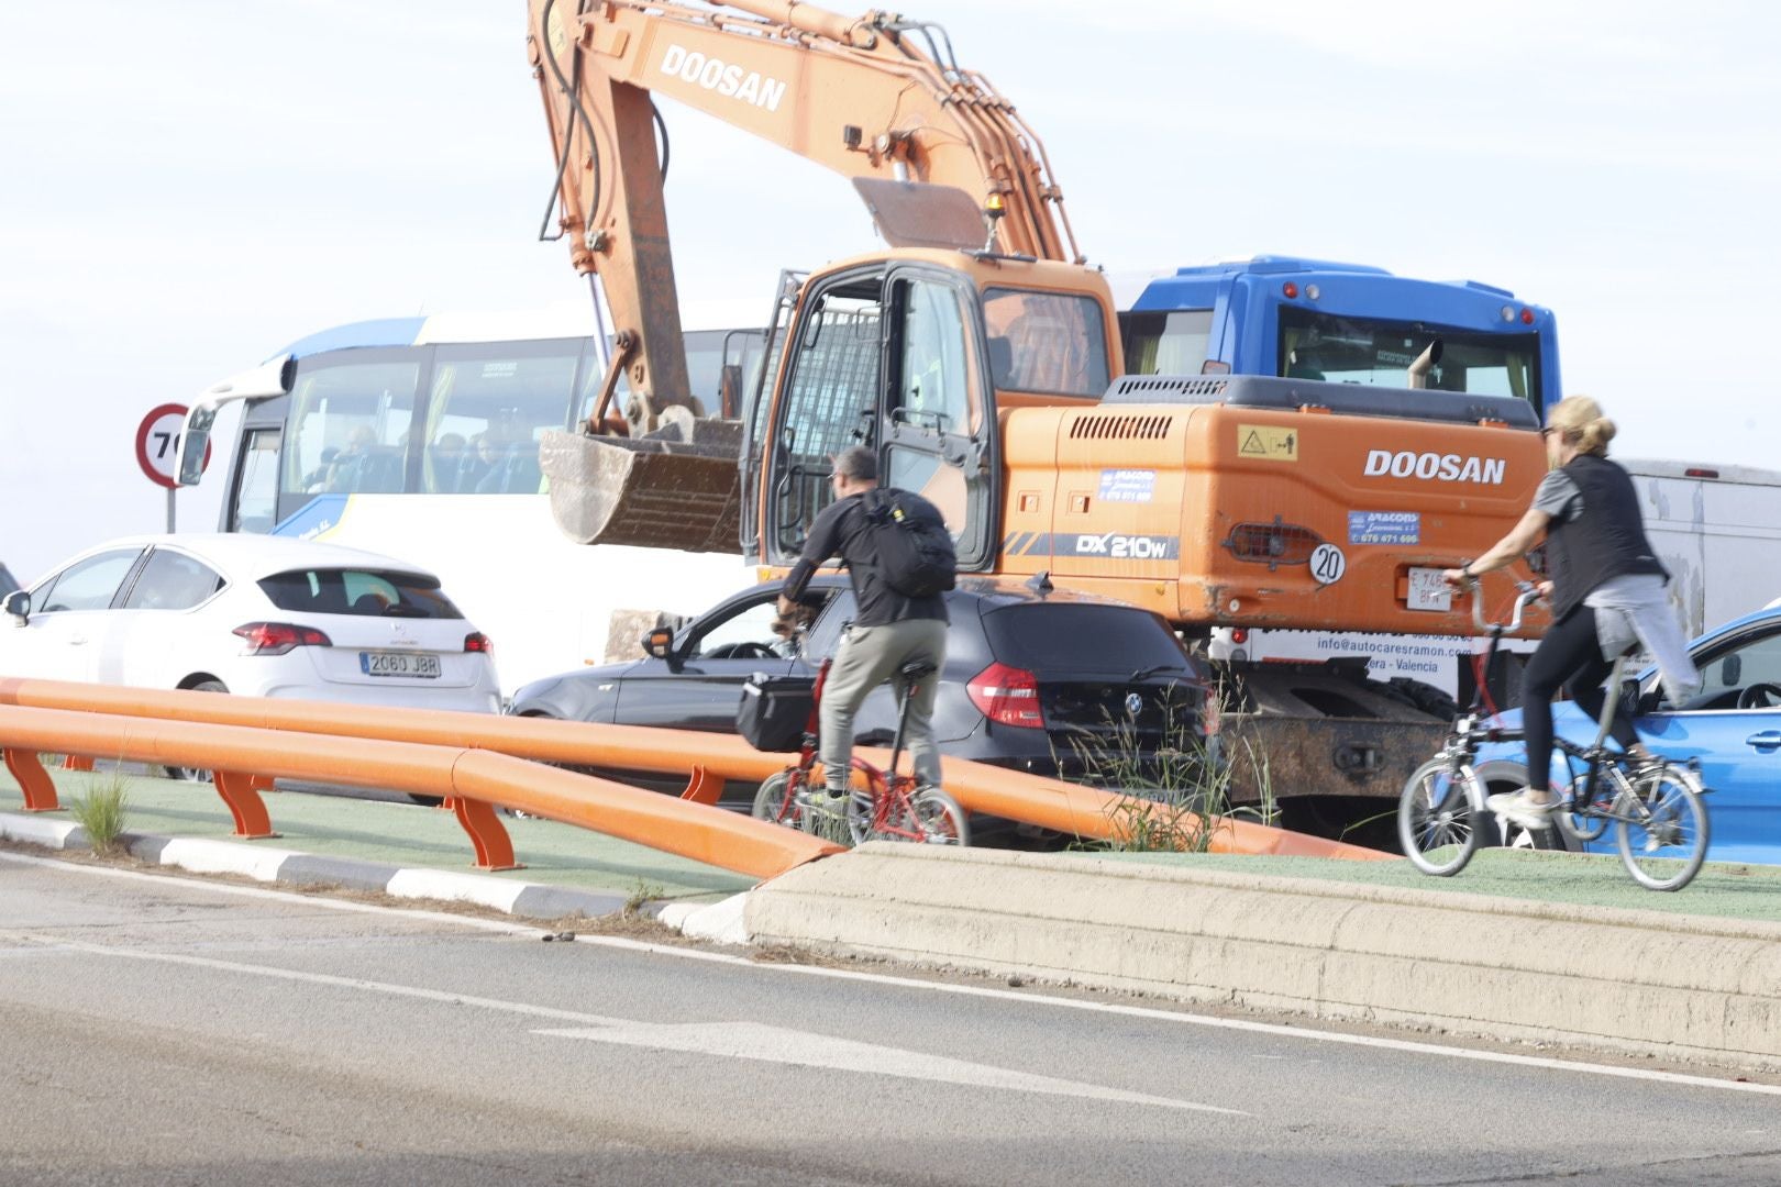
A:
[[[66,819],[16,813],[0,813],[0,840],[46,849],[93,847],[85,829]],[[287,886],[346,886],[383,892],[397,899],[476,902],[525,918],[561,918],[577,911],[597,916],[613,915],[625,908],[623,895],[520,883],[488,874],[324,858],[292,849],[240,845],[224,840],[153,836],[148,833],[125,833],[125,840],[130,854],[141,861],[173,865],[194,874],[240,874],[260,883],[283,883]]]

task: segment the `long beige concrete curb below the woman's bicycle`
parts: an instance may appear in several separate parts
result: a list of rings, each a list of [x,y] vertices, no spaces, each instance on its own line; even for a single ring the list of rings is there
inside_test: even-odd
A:
[[[1781,1068],[1781,924],[926,845],[755,888],[757,943]]]

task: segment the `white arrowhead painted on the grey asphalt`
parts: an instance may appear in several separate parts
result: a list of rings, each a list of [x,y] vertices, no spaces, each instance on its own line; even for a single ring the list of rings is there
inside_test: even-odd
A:
[[[1190,1112],[1222,1112],[1232,1118],[1254,1116],[1240,1109],[1220,1109],[1216,1105],[1200,1105],[1190,1100],[1127,1093],[1124,1089],[1102,1087],[1099,1084],[1058,1080],[1049,1075],[1010,1071],[990,1064],[947,1059],[946,1055],[928,1055],[896,1046],[880,1046],[876,1043],[857,1043],[853,1039],[837,1039],[826,1034],[769,1027],[759,1021],[695,1021],[670,1025],[634,1021],[598,1030],[534,1030],[533,1034],[565,1039],[593,1039],[595,1043],[620,1043],[623,1046],[648,1046],[670,1052],[693,1052],[698,1055],[723,1055],[727,1059],[755,1059],[760,1062],[793,1064],[800,1068],[864,1071],[867,1075],[890,1075],[903,1080],[933,1080],[939,1084],[994,1087],[1012,1093],[1079,1096],[1083,1100],[1108,1100],[1124,1105],[1158,1105],[1163,1109],[1186,1109]]]

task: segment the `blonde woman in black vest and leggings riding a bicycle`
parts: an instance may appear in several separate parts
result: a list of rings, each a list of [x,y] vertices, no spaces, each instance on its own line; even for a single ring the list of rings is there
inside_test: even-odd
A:
[[[1551,602],[1553,625],[1521,678],[1528,783],[1487,801],[1491,812],[1530,829],[1551,828],[1557,803],[1551,703],[1560,687],[1599,719],[1601,682],[1615,657],[1635,644],[1656,660],[1671,703],[1681,705],[1701,683],[1663,593],[1669,573],[1646,539],[1633,480],[1608,461],[1614,432],[1614,422],[1587,395],[1555,404],[1541,429],[1548,473],[1533,505],[1489,552],[1444,573],[1448,584],[1471,584],[1480,573],[1523,557],[1542,534],[1546,537],[1549,580],[1541,582],[1541,594]],[[1615,717],[1614,739],[1640,763],[1655,762],[1630,721]]]

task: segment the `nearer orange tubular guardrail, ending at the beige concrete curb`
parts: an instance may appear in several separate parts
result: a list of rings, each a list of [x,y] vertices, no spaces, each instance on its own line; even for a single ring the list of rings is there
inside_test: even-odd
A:
[[[18,705],[0,705],[0,747],[34,812],[55,808],[39,751],[217,771],[240,836],[276,836],[253,776],[445,795],[486,870],[520,868],[493,804],[753,877],[841,852],[734,812],[484,749]]]

